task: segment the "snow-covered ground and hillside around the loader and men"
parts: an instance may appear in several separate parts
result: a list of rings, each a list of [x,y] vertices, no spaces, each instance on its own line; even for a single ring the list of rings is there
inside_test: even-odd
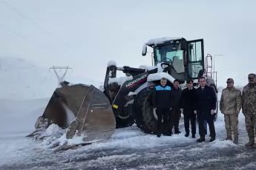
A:
[[[14,60],[16,64],[10,65],[16,68],[27,63]],[[7,68],[10,71],[10,67]],[[0,69],[1,74],[4,72],[4,75],[0,74],[1,80],[4,79],[6,84],[5,90],[1,89],[4,97],[1,97],[0,101],[0,169],[256,169],[255,149],[244,146],[248,137],[242,113],[239,115],[238,146],[223,140],[226,130],[223,115],[219,113],[215,122],[217,140],[212,143],[208,142],[209,136],[206,137],[205,143],[197,143],[191,136],[184,137],[183,120],[180,120],[180,135],[158,138],[145,134],[137,126],[131,126],[116,129],[108,140],[64,152],[53,152],[51,146],[58,140],[64,141],[63,135],[46,137],[42,141],[25,135],[33,131],[36,118],[42,115],[54,90],[49,84],[56,86],[56,78],[53,76],[48,81],[40,81],[40,77],[44,78],[45,73],[39,71],[31,80],[33,70],[27,68],[12,73],[7,68],[4,69],[1,65]],[[23,78],[19,80],[19,76],[24,77],[26,74],[30,77],[27,81]],[[36,79],[37,77],[39,78]],[[33,85],[26,88],[27,85],[24,86],[23,82],[18,84],[21,86],[8,87],[7,81],[13,82],[14,85],[23,81],[30,84],[30,81],[33,81]],[[48,82],[44,84],[46,87],[40,85],[42,82]],[[18,90],[13,89],[11,95],[14,97],[11,98],[8,95],[9,90],[15,87]],[[45,91],[42,88],[45,88]],[[20,90],[22,92],[19,92]],[[8,96],[10,98],[7,98]],[[57,133],[63,131],[56,126],[50,126],[47,132],[56,133],[56,130]]]

